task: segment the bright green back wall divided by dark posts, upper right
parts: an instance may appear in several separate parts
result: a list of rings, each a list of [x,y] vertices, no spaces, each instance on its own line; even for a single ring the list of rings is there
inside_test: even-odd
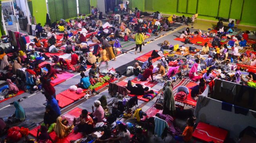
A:
[[[134,2],[135,0],[131,1]],[[151,2],[153,4],[150,4]],[[256,12],[254,10],[256,0],[145,0],[144,5],[145,11],[159,11],[160,13],[180,16],[192,16],[192,14],[198,13],[198,18],[207,20],[216,20],[216,17],[236,20],[241,18],[240,24],[256,26]]]

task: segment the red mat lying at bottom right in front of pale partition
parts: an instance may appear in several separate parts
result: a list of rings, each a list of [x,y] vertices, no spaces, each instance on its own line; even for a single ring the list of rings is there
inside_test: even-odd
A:
[[[228,131],[207,123],[199,122],[192,136],[205,142],[223,143]]]

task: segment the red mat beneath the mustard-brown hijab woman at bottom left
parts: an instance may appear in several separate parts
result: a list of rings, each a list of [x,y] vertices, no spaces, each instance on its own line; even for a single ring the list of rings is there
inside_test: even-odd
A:
[[[32,136],[36,137],[36,134],[37,134],[37,130],[40,129],[40,126],[38,127],[35,127],[34,129],[30,130],[29,131],[29,134],[31,134]],[[74,133],[74,130],[65,138],[63,139],[58,139],[58,137],[56,136],[56,133],[55,132],[51,132],[50,134],[50,137],[55,141],[56,143],[70,143],[71,140],[77,140],[77,139],[80,139],[83,137],[83,135],[78,132],[77,134]],[[51,143],[51,141],[50,141]]]

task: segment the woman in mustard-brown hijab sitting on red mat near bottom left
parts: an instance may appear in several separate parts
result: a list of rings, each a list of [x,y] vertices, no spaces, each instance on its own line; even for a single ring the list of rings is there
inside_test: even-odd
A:
[[[72,131],[72,128],[71,128],[71,126],[70,127],[65,126],[62,123],[62,117],[60,116],[57,118],[57,122],[56,122],[54,130],[55,130],[56,136],[58,138],[65,138]]]

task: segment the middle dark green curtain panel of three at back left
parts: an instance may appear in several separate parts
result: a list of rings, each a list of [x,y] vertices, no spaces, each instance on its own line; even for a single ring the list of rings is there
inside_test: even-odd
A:
[[[62,4],[64,10],[63,19],[73,18],[77,16],[76,0],[63,0]]]

